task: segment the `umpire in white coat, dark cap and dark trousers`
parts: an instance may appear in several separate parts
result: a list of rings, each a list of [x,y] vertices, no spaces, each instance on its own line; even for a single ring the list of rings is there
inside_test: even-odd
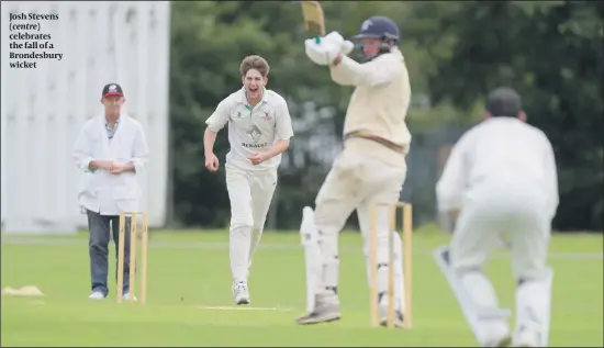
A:
[[[121,111],[124,101],[120,85],[107,85],[101,98],[104,113],[86,122],[74,149],[76,165],[83,171],[78,201],[88,215],[90,299],[93,300],[103,300],[109,293],[110,224],[118,246],[120,213],[139,211],[141,187],[136,176],[146,165],[149,154],[143,126]],[[126,221],[125,239],[123,294],[127,300],[130,221]]]

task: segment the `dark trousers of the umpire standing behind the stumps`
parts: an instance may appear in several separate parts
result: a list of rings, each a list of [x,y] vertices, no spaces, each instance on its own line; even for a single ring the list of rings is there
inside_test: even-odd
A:
[[[120,240],[120,216],[101,215],[99,213],[87,211],[88,228],[90,237],[88,239],[88,251],[90,255],[90,280],[92,291],[100,291],[105,296],[109,293],[108,272],[109,272],[109,239],[111,229],[113,229],[113,242],[115,244],[115,279],[118,279],[118,243]],[[111,227],[110,228],[110,224]],[[124,294],[130,289],[130,217],[126,217],[124,234]]]

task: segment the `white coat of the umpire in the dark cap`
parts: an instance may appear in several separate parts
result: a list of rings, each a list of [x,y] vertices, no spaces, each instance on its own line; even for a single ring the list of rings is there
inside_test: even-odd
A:
[[[141,186],[136,178],[148,160],[149,149],[141,123],[126,114],[120,116],[118,128],[109,139],[105,116],[90,119],[83,125],[74,149],[74,159],[83,171],[79,188],[80,206],[101,215],[119,215],[141,209]],[[136,172],[109,173],[91,171],[92,159],[132,162]]]

